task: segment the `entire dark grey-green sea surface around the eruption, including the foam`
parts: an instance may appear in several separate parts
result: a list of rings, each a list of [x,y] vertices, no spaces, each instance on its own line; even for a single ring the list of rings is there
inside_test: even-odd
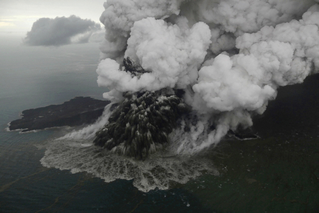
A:
[[[98,58],[98,44],[0,52],[0,212],[319,212],[318,75],[279,90],[254,119],[260,138],[224,139],[197,156],[141,163],[55,140],[72,128],[6,130],[25,109],[102,99]]]

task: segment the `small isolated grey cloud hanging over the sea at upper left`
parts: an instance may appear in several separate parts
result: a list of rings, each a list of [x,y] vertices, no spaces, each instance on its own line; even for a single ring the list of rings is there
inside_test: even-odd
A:
[[[101,31],[101,25],[75,15],[70,17],[40,18],[26,33],[23,43],[30,46],[61,46],[87,43],[91,35]],[[96,39],[93,39],[96,41]]]

